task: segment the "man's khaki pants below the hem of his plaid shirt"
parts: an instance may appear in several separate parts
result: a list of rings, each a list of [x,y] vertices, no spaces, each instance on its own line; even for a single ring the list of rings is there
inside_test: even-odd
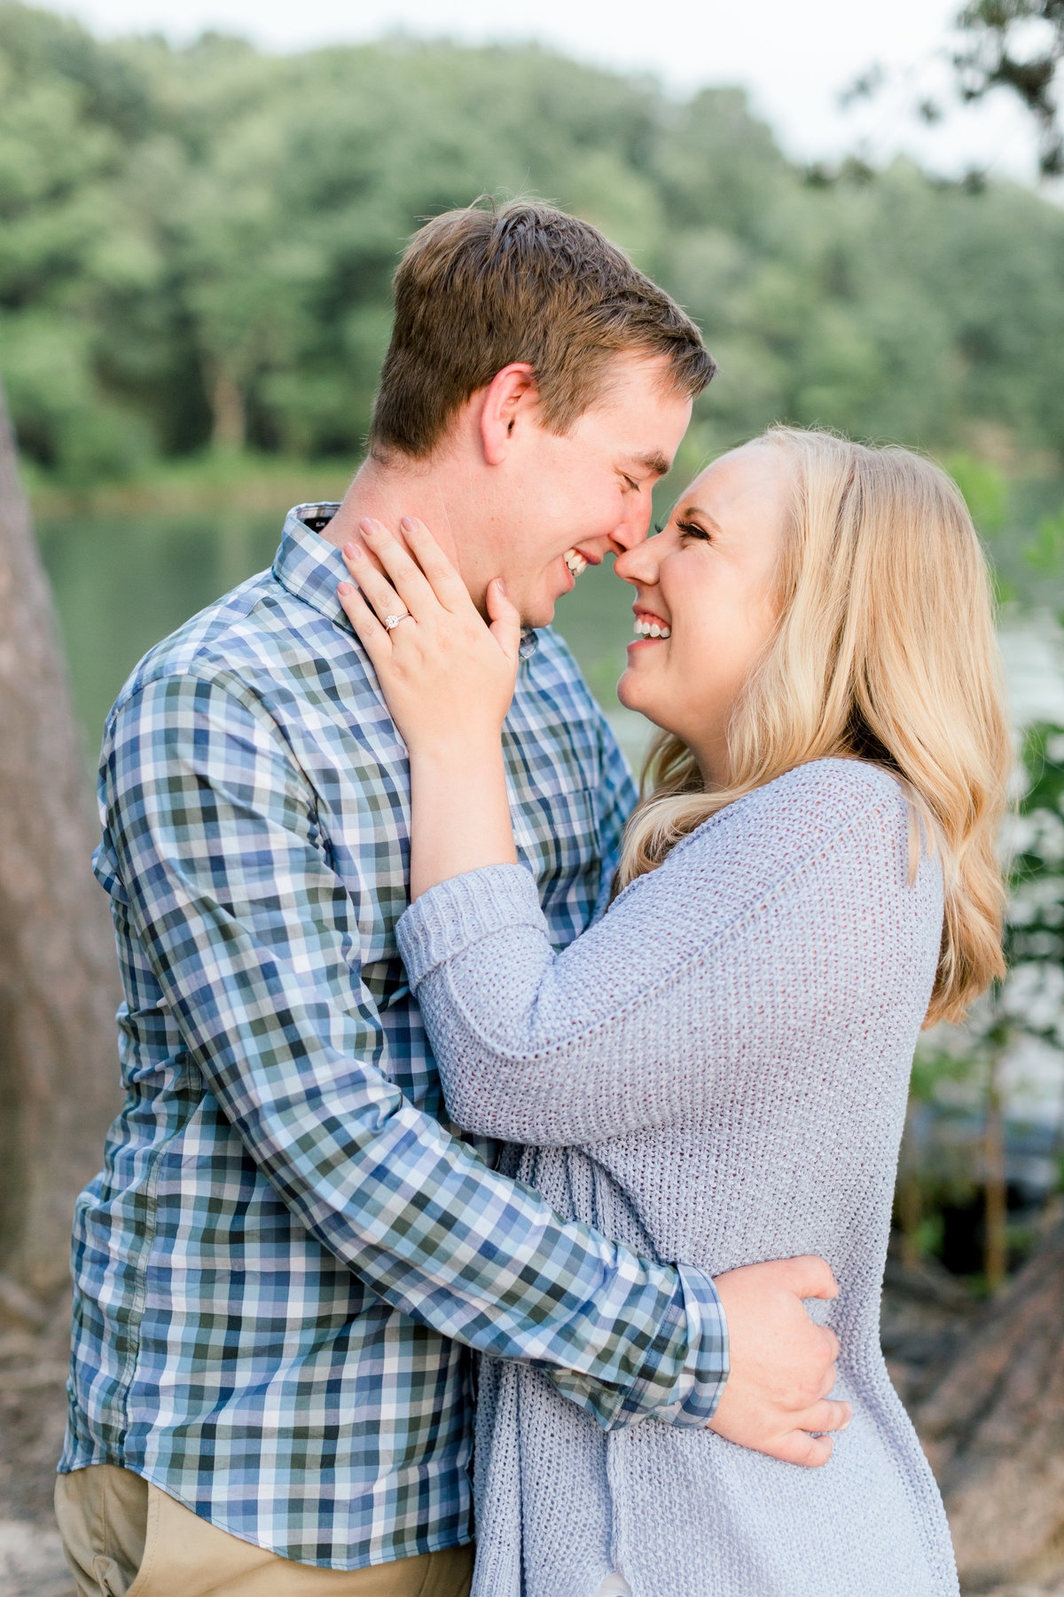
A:
[[[56,1482],[78,1597],[469,1597],[472,1547],[319,1570],[230,1536],[118,1464]]]

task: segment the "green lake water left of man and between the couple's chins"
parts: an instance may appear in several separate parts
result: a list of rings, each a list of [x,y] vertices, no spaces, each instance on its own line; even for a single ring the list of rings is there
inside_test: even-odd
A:
[[[286,508],[278,514],[142,513],[38,522],[93,763],[107,711],[137,660],[196,610],[271,564]],[[584,572],[558,602],[555,624],[638,763],[649,728],[614,693],[632,637],[632,597],[608,561]]]

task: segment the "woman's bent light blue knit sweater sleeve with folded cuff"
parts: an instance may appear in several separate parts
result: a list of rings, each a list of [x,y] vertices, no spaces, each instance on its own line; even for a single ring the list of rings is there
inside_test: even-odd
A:
[[[904,891],[906,805],[882,773],[831,760],[705,822],[562,953],[523,867],[440,883],[399,944],[448,1112],[539,1147],[683,1119],[743,1036],[785,1044],[826,982],[844,1003],[874,979],[869,872],[879,901]],[[828,949],[812,945],[807,894],[831,901]]]

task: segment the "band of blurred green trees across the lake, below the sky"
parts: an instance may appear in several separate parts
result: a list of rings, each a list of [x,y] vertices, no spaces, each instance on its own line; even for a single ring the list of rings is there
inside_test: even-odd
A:
[[[895,163],[788,163],[734,89],[676,102],[536,48],[266,57],[100,43],[0,0],[0,375],[56,481],[247,444],[357,452],[420,219],[534,192],[600,224],[721,366],[681,465],[782,418],[1064,454],[1064,214]]]

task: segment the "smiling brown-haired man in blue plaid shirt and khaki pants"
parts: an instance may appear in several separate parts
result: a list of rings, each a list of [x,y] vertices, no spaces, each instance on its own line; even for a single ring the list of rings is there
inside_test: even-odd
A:
[[[80,1592],[466,1592],[469,1348],[533,1361],[608,1428],[713,1421],[826,1458],[807,1433],[844,1421],[823,1401],[837,1345],[801,1306],[833,1295],[826,1265],[715,1286],[638,1258],[440,1126],[392,936],[405,751],[337,599],[367,514],[428,521],[479,600],[506,580],[528,628],[517,843],[568,942],[635,792],[568,652],[533,629],[582,562],[646,537],[711,372],[592,227],[530,204],[439,217],[396,276],[345,503],[292,511],[273,570],[123,688],[96,874],[128,1097],[75,1220],[57,1485]]]

